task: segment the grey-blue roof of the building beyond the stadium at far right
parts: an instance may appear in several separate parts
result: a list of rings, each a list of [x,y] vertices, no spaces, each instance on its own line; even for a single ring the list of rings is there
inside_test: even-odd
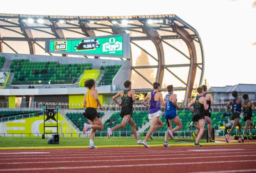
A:
[[[237,84],[234,86],[210,87],[212,92],[256,92],[256,84]]]

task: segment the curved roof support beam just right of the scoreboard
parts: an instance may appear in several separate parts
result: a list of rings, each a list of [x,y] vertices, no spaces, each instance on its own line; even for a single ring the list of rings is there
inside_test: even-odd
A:
[[[149,37],[149,39],[154,43],[157,49],[158,56],[158,68],[157,68],[157,78],[156,81],[162,85],[163,73],[164,73],[164,51],[162,46],[162,40],[159,34],[151,28],[146,22],[141,21],[142,31]]]

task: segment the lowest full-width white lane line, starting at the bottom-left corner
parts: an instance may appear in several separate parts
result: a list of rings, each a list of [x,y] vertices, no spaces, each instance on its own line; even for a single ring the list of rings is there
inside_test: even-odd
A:
[[[183,163],[154,163],[154,164],[127,164],[127,165],[98,165],[98,166],[79,166],[79,167],[52,167],[52,168],[9,168],[0,169],[4,171],[39,171],[39,170],[60,170],[60,169],[92,169],[92,168],[123,168],[123,167],[146,167],[146,166],[171,166],[171,165],[194,165],[194,164],[212,164],[212,163],[237,163],[237,162],[256,162],[256,160],[229,160],[229,161],[211,161],[211,162],[183,162]]]

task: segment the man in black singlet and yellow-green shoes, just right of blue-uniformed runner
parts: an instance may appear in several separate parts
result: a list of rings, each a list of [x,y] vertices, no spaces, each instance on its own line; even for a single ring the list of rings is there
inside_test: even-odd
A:
[[[194,112],[193,120],[194,122],[197,122],[197,125],[199,126],[199,133],[197,135],[196,141],[194,143],[197,147],[202,147],[199,144],[199,140],[202,137],[204,133],[204,110],[208,109],[206,99],[204,97],[204,88],[198,87],[197,92],[199,95],[197,97],[194,97],[193,100],[188,104],[188,109]],[[192,107],[193,105],[193,107]]]

